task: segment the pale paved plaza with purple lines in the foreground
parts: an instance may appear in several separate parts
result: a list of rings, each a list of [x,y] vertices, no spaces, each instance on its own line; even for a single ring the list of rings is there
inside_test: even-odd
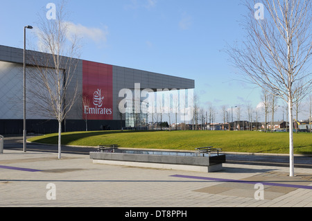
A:
[[[4,150],[0,206],[312,206],[312,168],[223,163],[216,173],[95,164],[89,155]],[[261,188],[262,186],[262,188]]]

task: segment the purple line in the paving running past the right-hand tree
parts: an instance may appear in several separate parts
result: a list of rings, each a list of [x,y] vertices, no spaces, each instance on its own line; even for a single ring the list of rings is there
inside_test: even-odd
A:
[[[222,179],[222,178],[212,178],[212,177],[195,177],[195,176],[186,176],[186,175],[172,175],[171,177],[180,177],[180,178],[188,178],[188,179],[204,179],[210,181],[217,182],[234,182],[234,183],[243,183],[243,184],[263,184],[267,186],[282,186],[282,187],[291,187],[291,188],[305,188],[312,190],[312,186],[303,186],[303,185],[293,185],[293,184],[276,184],[269,182],[252,182],[247,180],[239,180],[239,179]]]

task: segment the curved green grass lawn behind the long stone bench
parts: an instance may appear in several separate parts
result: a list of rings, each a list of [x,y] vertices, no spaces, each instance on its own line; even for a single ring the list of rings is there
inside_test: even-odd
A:
[[[62,145],[97,146],[118,144],[122,148],[150,148],[194,150],[214,146],[224,152],[289,153],[289,135],[286,132],[250,131],[96,131],[62,133]],[[58,134],[36,136],[28,141],[58,143]],[[312,134],[294,134],[294,153],[312,154]]]

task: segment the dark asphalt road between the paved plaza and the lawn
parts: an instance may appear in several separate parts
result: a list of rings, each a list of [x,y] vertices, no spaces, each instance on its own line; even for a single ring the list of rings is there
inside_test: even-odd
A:
[[[21,136],[8,136],[4,139],[5,150],[21,150],[23,151],[23,141]],[[44,145],[37,143],[27,143],[28,151],[35,152],[58,152],[57,145]],[[97,150],[97,148],[81,148],[62,146],[62,153],[69,154],[89,154]],[[312,156],[295,156],[295,168],[312,168]],[[239,163],[249,165],[265,165],[265,166],[289,166],[289,157],[287,155],[277,154],[232,154],[226,153],[227,163]]]

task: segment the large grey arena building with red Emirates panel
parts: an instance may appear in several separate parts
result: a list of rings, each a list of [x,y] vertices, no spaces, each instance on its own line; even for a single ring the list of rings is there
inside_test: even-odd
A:
[[[30,52],[30,51],[28,51]],[[38,58],[46,55],[36,53]],[[142,71],[111,64],[101,64],[87,60],[77,60],[77,68],[73,73],[72,82],[78,82],[78,96],[71,107],[62,131],[82,130],[120,130],[125,127],[144,127],[148,122],[148,114],[129,114],[119,111],[120,91],[122,89],[193,89],[194,80],[179,78],[161,73]],[[0,45],[0,134],[22,134],[23,132],[23,67],[24,50]],[[50,68],[53,69],[51,66]],[[33,71],[31,62],[26,58],[27,73]],[[64,70],[66,73],[66,70]],[[28,81],[27,81],[28,82]],[[72,94],[73,85],[68,94]],[[26,94],[31,88],[26,84]],[[135,93],[134,93],[135,94]],[[70,96],[67,96],[70,99]],[[65,101],[66,102],[66,101]],[[58,132],[58,121],[46,117],[35,108],[30,107],[26,100],[27,132],[47,134]],[[138,123],[139,122],[139,123]]]

